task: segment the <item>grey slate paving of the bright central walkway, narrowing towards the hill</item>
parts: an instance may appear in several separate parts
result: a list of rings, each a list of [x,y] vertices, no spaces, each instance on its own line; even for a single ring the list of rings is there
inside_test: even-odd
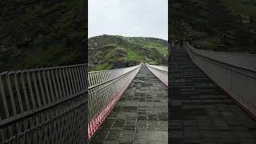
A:
[[[142,65],[90,144],[167,144],[168,90]]]

